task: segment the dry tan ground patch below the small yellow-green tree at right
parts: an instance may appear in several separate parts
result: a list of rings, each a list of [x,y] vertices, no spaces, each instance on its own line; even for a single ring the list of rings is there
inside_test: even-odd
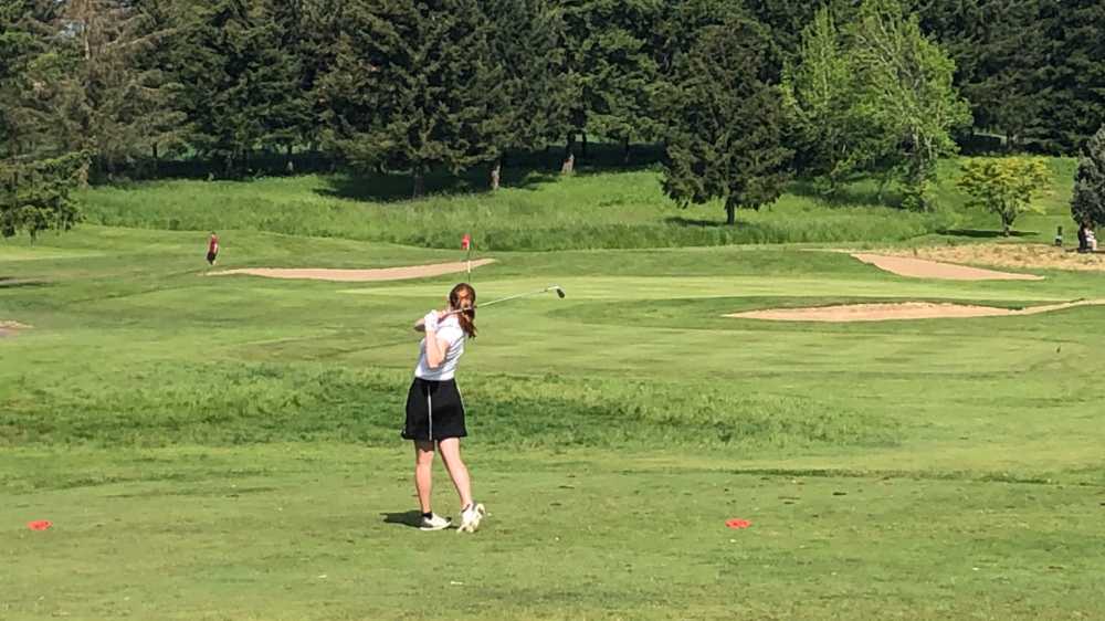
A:
[[[918,248],[911,251],[883,252],[882,254],[1020,270],[1105,272],[1105,253],[1078,254],[1046,244],[968,244]]]

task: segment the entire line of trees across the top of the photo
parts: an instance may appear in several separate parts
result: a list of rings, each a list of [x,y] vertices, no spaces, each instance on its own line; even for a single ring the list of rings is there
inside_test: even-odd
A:
[[[588,140],[663,145],[676,201],[854,175],[925,208],[971,136],[1073,154],[1105,120],[1096,0],[8,0],[0,232],[70,190],[199,157],[322,152],[411,176]]]

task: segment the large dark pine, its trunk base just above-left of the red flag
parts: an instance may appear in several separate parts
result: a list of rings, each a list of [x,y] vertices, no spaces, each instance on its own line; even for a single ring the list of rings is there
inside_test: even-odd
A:
[[[409,170],[415,198],[434,167],[497,156],[485,124],[502,76],[476,0],[357,0],[346,11],[319,83],[334,149],[362,169]]]

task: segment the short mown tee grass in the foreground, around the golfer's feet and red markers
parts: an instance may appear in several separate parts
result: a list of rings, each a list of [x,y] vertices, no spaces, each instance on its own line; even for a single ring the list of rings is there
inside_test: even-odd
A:
[[[8,619],[1071,619],[1099,615],[1099,494],[474,450],[475,536],[408,524],[404,452],[23,453]],[[71,469],[110,480],[65,481]],[[7,473],[6,473],[7,474]],[[59,481],[61,480],[61,481]],[[53,487],[56,485],[56,487]],[[442,485],[444,487],[445,485]],[[444,490],[439,507],[452,507]],[[444,508],[439,509],[444,511]],[[730,517],[750,519],[730,530]]]

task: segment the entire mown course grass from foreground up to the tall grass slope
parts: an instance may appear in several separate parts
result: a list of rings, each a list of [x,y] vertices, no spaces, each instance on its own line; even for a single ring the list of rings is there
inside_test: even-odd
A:
[[[459,239],[459,234],[455,235]],[[460,251],[220,230],[219,269]],[[453,276],[202,277],[206,235],[0,243],[0,619],[1103,619],[1098,274],[902,278],[794,248],[487,253],[459,376],[490,516],[421,533],[411,323]],[[438,465],[435,511],[455,515]],[[751,522],[726,528],[729,518]],[[32,531],[27,523],[49,519]]]

